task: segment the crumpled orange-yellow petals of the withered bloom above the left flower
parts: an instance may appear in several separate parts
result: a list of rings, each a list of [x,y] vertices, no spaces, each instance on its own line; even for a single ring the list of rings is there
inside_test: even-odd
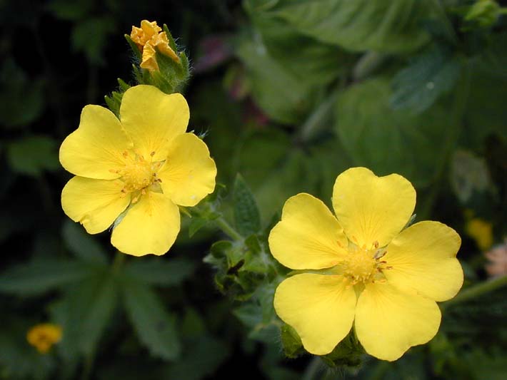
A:
[[[159,63],[156,61],[156,50],[165,56],[171,57],[176,63],[179,63],[179,56],[169,46],[169,39],[165,31],[161,31],[156,21],[141,21],[141,28],[132,26],[130,38],[139,47],[142,53],[141,68],[146,68],[150,72],[159,71]]]

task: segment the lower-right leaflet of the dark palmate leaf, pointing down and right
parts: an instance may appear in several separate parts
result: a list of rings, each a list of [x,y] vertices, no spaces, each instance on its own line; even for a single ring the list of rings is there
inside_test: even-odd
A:
[[[155,292],[141,282],[124,283],[124,300],[134,329],[153,356],[174,360],[181,345],[176,332],[176,316],[166,311]]]

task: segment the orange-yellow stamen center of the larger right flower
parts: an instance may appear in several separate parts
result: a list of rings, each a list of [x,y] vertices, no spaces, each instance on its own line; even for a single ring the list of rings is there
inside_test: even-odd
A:
[[[381,261],[386,251],[378,250],[378,243],[374,247],[373,250],[354,247],[348,251],[348,257],[343,262],[343,276],[351,285],[382,281],[382,271],[391,269],[384,266],[385,261]]]

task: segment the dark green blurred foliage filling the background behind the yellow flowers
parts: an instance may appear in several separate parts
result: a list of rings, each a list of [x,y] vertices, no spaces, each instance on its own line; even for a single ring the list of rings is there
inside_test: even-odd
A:
[[[2,1],[0,379],[238,371],[503,379],[506,287],[444,304],[437,337],[395,363],[363,358],[329,369],[301,355],[298,337],[274,314],[286,269],[266,244],[289,196],[310,192],[329,205],[336,175],[363,165],[411,180],[417,220],[445,222],[463,237],[465,286],[486,279],[481,251],[490,247],[467,225],[491,224],[494,244],[507,233],[500,3]],[[168,254],[136,260],[115,257],[107,234],[86,235],[65,217],[59,194],[70,175],[58,147],[85,104],[104,105],[117,77],[133,80],[123,35],[141,19],[168,24],[191,58],[189,129],[207,133],[225,188],[184,217]],[[239,235],[221,240],[214,220],[223,216]],[[41,355],[25,336],[46,321],[60,324],[64,339]],[[343,364],[343,352],[334,354],[326,363]]]

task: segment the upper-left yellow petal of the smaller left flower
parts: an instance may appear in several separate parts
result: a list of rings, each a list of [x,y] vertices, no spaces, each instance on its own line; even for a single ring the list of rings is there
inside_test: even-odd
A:
[[[86,106],[79,128],[67,136],[60,147],[60,163],[81,177],[112,180],[114,170],[124,167],[121,155],[132,143],[114,113],[101,106]]]

